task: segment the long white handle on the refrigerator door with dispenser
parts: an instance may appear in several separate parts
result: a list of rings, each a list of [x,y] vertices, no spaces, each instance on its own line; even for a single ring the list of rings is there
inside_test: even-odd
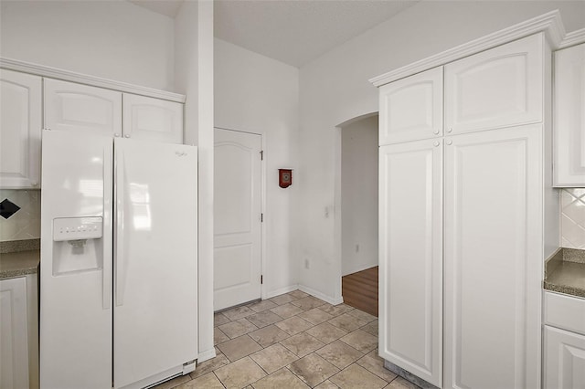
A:
[[[101,299],[104,310],[112,305],[112,146],[103,151],[103,253]]]

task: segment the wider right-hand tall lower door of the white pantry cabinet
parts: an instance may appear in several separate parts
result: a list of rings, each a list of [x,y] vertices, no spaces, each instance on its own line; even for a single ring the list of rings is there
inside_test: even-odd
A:
[[[443,387],[540,387],[541,126],[445,142]]]

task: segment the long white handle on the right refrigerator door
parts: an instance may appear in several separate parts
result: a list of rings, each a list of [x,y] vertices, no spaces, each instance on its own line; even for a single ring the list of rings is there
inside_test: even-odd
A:
[[[116,149],[116,166],[114,170],[115,193],[116,193],[116,252],[115,252],[115,278],[116,278],[116,306],[124,303],[123,285],[123,258],[124,258],[124,156],[122,151]]]

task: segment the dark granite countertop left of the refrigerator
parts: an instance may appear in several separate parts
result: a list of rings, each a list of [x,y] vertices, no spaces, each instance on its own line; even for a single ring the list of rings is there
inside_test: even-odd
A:
[[[0,242],[0,279],[37,273],[40,261],[38,239]]]

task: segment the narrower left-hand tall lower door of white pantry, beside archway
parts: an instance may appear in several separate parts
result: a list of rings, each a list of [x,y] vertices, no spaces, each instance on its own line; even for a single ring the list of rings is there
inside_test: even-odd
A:
[[[441,386],[442,142],[379,151],[379,354]]]

